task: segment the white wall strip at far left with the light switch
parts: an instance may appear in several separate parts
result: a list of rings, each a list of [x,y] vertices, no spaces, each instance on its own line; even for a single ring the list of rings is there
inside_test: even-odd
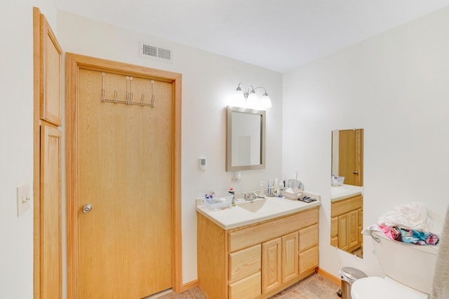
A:
[[[33,297],[33,203],[16,206],[16,187],[33,186],[33,6],[55,25],[52,0],[1,4],[0,298]]]

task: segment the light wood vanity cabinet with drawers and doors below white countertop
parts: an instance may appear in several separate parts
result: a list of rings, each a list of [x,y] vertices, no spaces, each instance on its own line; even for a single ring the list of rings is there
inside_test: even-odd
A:
[[[207,298],[269,298],[318,267],[318,207],[229,230],[197,215],[199,287]]]

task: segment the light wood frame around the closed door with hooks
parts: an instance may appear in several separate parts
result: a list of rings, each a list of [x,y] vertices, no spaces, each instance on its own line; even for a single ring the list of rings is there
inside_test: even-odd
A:
[[[78,178],[79,170],[76,162],[79,161],[76,146],[78,144],[78,111],[79,96],[78,76],[79,69],[95,69],[115,74],[143,77],[167,81],[173,84],[172,98],[172,178],[168,196],[172,204],[172,288],[176,293],[182,291],[182,235],[181,235],[181,87],[182,74],[152,69],[139,65],[130,65],[123,62],[92,58],[74,53],[66,53],[66,190],[67,190],[67,298],[79,298],[79,227],[78,215],[81,211]],[[100,99],[99,99],[100,100]]]

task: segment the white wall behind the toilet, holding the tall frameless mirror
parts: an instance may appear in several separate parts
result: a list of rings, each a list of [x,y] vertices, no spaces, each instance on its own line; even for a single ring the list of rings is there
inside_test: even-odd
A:
[[[417,201],[443,222],[449,178],[449,8],[283,74],[283,171],[322,194],[320,267],[382,275],[365,237],[363,260],[331,247],[331,131],[364,128],[363,225]]]

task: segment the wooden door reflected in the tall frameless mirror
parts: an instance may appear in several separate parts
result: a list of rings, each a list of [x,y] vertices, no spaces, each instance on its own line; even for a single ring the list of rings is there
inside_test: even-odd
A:
[[[338,132],[338,175],[344,184],[363,186],[363,129]]]

